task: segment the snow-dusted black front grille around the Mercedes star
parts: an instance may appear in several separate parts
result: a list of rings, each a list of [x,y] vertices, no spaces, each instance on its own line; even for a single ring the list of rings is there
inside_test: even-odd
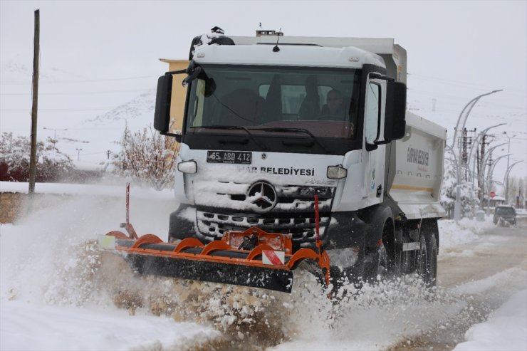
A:
[[[315,241],[315,194],[318,194],[320,235],[324,233],[330,220],[324,214],[330,212],[334,187],[263,183],[194,183],[199,195],[196,198],[198,235],[204,240],[214,240],[224,231],[244,231],[257,226],[271,233],[292,234],[297,243],[311,243]],[[251,199],[251,189],[255,187],[262,193],[269,191],[264,195],[273,200],[273,206],[266,209]]]

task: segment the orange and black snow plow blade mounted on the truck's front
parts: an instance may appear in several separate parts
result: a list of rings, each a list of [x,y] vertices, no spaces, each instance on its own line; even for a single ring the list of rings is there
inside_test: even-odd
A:
[[[316,251],[301,248],[293,253],[291,234],[270,234],[252,227],[226,232],[221,240],[207,244],[195,238],[165,243],[152,234],[135,239],[135,231],[126,229],[130,236],[110,231],[100,246],[122,253],[137,273],[291,293],[293,270],[306,260],[320,268],[321,280],[329,284],[328,253],[319,245]]]

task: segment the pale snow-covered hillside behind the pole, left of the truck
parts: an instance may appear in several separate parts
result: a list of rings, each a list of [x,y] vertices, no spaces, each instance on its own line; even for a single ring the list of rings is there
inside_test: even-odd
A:
[[[155,77],[90,79],[42,65],[38,93],[39,140],[58,140],[57,147],[78,166],[106,162],[120,152],[125,125],[150,127],[155,108]],[[16,58],[0,66],[1,132],[30,135],[32,66]]]

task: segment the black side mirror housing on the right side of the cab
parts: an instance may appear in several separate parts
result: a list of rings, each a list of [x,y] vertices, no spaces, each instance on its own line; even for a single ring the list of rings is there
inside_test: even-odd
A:
[[[405,136],[405,128],[406,84],[388,80],[385,105],[385,141],[401,139]]]

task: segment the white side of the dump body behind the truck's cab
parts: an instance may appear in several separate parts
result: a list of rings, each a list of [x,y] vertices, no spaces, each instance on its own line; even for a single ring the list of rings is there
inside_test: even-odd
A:
[[[439,204],[447,130],[412,112],[406,135],[390,153],[388,194],[407,219],[442,217]]]

